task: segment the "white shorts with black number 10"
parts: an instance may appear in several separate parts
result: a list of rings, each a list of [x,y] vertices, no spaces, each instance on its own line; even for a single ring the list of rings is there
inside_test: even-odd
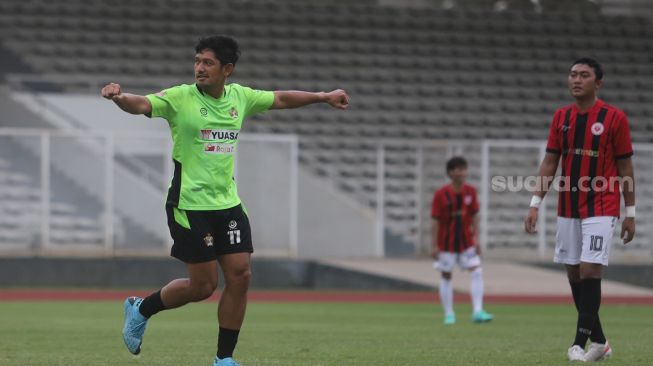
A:
[[[558,217],[553,261],[571,265],[586,262],[607,266],[616,224],[615,216],[586,219]]]

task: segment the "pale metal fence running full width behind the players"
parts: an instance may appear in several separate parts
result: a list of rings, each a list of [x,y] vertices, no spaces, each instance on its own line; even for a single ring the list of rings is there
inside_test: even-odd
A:
[[[453,155],[467,158],[468,181],[479,192],[485,255],[516,260],[552,256],[555,192],[544,200],[538,235],[531,236],[523,230],[531,192],[495,184],[497,178],[508,182],[536,175],[543,144],[515,140],[352,143],[358,151],[351,153],[344,145],[337,150],[357,158],[366,155],[364,159],[352,162],[352,156],[336,156],[330,166],[320,168],[327,172],[323,178],[329,185],[346,186],[343,194],[352,202],[376,212],[370,221],[376,226],[376,242],[365,243],[376,248],[376,256],[430,252],[431,199],[448,182],[445,162]],[[167,134],[134,137],[117,132],[0,129],[0,253],[166,254],[171,243],[163,205],[172,176],[170,151]],[[235,178],[253,218],[261,255],[293,257],[300,246],[311,245],[298,242],[297,234],[301,154],[296,136],[241,135]],[[633,159],[637,235],[628,246],[615,237],[614,262],[653,260],[653,247],[648,245],[653,223],[653,145],[636,144]],[[339,170],[359,174],[345,179]],[[342,219],[337,216],[324,217],[325,224],[337,227]]]

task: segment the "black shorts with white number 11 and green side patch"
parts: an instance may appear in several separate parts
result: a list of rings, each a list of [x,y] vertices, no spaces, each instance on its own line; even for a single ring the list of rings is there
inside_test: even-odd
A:
[[[208,262],[224,254],[254,251],[249,218],[242,205],[216,211],[177,209],[177,219],[172,206],[166,206],[166,213],[174,240],[170,255],[184,263]]]

